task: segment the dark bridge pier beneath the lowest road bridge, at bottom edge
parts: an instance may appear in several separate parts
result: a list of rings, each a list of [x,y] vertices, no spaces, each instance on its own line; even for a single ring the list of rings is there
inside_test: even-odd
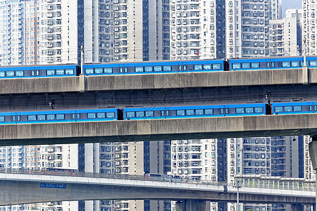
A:
[[[175,211],[210,211],[210,201],[208,200],[182,200],[176,202]]]

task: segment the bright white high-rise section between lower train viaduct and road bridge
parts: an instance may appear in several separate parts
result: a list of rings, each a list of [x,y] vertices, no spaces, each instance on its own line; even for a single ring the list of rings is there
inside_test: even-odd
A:
[[[222,141],[220,139],[219,146],[217,139],[171,141],[171,174],[194,181],[225,181]],[[210,208],[224,210],[223,203],[210,203]]]

